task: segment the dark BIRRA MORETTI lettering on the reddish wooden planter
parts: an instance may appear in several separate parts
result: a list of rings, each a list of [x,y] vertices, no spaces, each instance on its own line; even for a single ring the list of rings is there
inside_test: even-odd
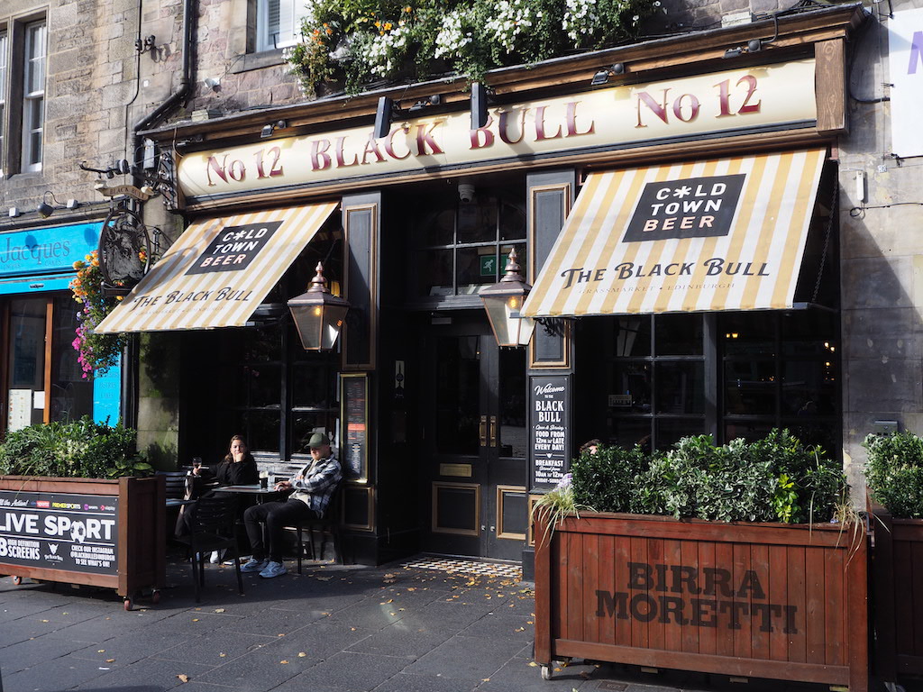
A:
[[[626,591],[596,591],[596,617],[740,629],[749,617],[761,632],[797,634],[797,606],[766,601],[756,572],[735,581],[721,567],[629,562]]]

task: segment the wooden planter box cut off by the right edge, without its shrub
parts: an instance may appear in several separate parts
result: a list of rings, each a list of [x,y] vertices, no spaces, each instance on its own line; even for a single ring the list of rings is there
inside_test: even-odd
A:
[[[923,675],[923,519],[875,516],[876,671],[884,682],[896,683]]]

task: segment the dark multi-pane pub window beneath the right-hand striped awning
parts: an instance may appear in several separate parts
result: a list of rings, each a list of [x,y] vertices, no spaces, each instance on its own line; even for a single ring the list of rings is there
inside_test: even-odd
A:
[[[724,443],[785,427],[839,453],[833,311],[584,317],[578,329],[581,439],[665,450],[685,435]]]

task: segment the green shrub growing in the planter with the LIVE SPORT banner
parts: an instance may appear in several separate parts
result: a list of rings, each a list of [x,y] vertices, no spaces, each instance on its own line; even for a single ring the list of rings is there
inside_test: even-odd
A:
[[[64,478],[143,476],[152,468],[135,451],[136,433],[122,424],[31,425],[6,433],[0,444],[0,475]]]

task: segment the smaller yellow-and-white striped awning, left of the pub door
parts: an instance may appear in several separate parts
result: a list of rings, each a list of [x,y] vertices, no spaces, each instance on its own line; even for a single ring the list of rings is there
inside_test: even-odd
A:
[[[191,224],[98,333],[243,327],[336,202]]]

